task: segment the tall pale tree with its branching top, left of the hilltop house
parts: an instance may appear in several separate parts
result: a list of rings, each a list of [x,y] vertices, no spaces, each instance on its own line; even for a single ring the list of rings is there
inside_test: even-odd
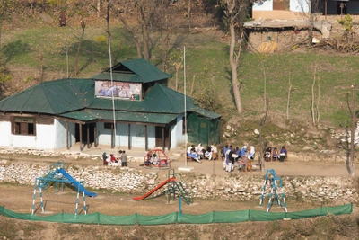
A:
[[[238,113],[241,114],[243,111],[243,107],[241,105],[241,93],[240,93],[240,84],[238,83],[237,68],[240,62],[243,32],[241,33],[241,39],[237,40],[236,27],[242,25],[247,7],[250,4],[250,0],[222,0],[221,2],[222,2],[224,14],[226,16],[225,20],[228,22],[230,36],[231,36],[229,60],[230,60],[230,66],[232,72],[232,90],[234,95],[234,102],[236,103],[236,108]],[[238,47],[236,50],[237,42],[238,42]]]

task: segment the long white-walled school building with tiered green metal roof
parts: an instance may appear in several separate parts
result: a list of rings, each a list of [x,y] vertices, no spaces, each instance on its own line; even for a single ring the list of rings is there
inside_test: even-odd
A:
[[[189,142],[218,144],[221,115],[168,88],[169,77],[140,58],[88,79],[34,85],[0,101],[0,146],[171,149],[186,140],[185,116]]]

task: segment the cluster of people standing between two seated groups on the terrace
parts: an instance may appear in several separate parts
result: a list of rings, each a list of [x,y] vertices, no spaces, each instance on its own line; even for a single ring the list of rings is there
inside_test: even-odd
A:
[[[247,171],[247,167],[251,164],[251,161],[255,158],[255,150],[253,146],[250,146],[250,152],[247,151],[247,146],[243,147],[223,147],[223,169],[226,172],[232,172],[234,170],[235,163],[238,164],[239,171]]]

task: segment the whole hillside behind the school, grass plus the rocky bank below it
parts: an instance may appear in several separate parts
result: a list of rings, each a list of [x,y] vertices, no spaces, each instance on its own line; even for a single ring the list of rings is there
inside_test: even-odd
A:
[[[66,27],[58,27],[55,17],[58,14],[35,13],[27,21],[22,16],[5,26],[2,54],[12,80],[2,83],[3,97],[41,81],[66,77],[66,49],[69,76],[74,76],[77,39],[82,29],[75,18]],[[267,145],[290,145],[292,152],[301,152],[302,149],[313,152],[341,149],[333,136],[338,129],[343,131],[350,125],[346,114],[346,92],[351,84],[358,84],[359,81],[359,59],[356,56],[311,48],[271,55],[252,54],[244,50],[239,82],[245,111],[238,116],[232,99],[228,36],[223,27],[213,17],[199,10],[190,31],[185,28],[186,22],[181,21],[183,26],[168,35],[166,47],[163,47],[162,32],[152,31],[151,61],[163,69],[165,52],[166,71],[173,75],[169,86],[176,89],[178,79],[178,90],[183,92],[183,67],[176,73],[176,65],[183,65],[186,47],[187,93],[203,106],[223,114],[223,132],[227,132],[227,137],[222,139],[223,144],[258,146],[254,129],[259,128],[264,112],[266,89],[269,111],[263,134]],[[105,20],[90,16],[85,18],[85,22],[77,77],[93,76],[109,67]],[[113,62],[137,58],[136,44],[118,19],[112,22],[111,34]],[[313,91],[320,112],[318,126],[311,124],[314,72],[316,84]],[[286,120],[289,80],[292,91],[289,119]]]

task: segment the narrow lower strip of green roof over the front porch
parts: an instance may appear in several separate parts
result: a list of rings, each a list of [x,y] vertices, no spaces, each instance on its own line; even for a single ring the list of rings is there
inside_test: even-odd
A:
[[[83,110],[61,114],[60,117],[73,120],[113,120],[113,111],[109,110]],[[176,114],[158,114],[151,112],[115,111],[118,121],[145,122],[167,124],[177,118]]]

